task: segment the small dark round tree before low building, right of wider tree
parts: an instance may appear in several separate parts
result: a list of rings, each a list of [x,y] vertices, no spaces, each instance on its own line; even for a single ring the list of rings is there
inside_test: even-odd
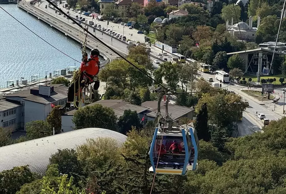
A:
[[[131,130],[131,127],[135,127],[136,129],[139,129],[142,127],[140,123],[140,119],[138,117],[138,114],[136,111],[124,110],[124,113],[122,116],[119,117],[118,127],[120,128],[120,132],[122,134],[126,134],[129,130]]]

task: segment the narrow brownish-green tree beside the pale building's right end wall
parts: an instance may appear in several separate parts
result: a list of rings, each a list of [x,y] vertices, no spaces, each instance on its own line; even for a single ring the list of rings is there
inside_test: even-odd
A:
[[[55,106],[46,121],[53,128],[55,127],[55,134],[59,134],[62,131],[62,112],[59,110],[61,106]]]

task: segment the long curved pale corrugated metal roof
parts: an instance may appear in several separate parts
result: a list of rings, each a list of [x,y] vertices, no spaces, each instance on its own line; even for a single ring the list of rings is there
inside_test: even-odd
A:
[[[108,129],[86,128],[3,146],[0,147],[0,171],[29,165],[31,171],[44,174],[51,154],[56,153],[58,149],[75,149],[86,143],[86,139],[98,137],[113,138],[117,140],[118,146],[121,146],[127,138]]]

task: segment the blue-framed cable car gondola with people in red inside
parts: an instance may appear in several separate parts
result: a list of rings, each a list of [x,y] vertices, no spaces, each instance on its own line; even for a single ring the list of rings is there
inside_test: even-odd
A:
[[[186,175],[188,170],[196,170],[198,145],[193,123],[188,126],[156,127],[149,152],[152,164],[149,171]]]

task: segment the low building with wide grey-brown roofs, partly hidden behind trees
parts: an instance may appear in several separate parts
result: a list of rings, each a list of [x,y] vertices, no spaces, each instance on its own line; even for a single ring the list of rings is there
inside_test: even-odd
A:
[[[143,102],[141,106],[137,106],[130,104],[129,102],[125,102],[124,100],[99,100],[86,106],[101,104],[102,106],[110,107],[114,110],[117,118],[123,115],[124,110],[130,109],[132,111],[137,111],[139,119],[141,120],[144,117],[144,123],[147,123],[148,121],[156,118],[157,103],[157,101],[146,101]],[[165,103],[166,102],[164,101],[161,102],[161,112],[165,112]],[[74,130],[75,125],[73,124],[72,119],[75,111],[76,110],[71,110],[62,115],[63,132]],[[193,111],[194,109],[192,108],[169,104],[169,114],[172,119],[179,119],[181,117],[193,119]]]

